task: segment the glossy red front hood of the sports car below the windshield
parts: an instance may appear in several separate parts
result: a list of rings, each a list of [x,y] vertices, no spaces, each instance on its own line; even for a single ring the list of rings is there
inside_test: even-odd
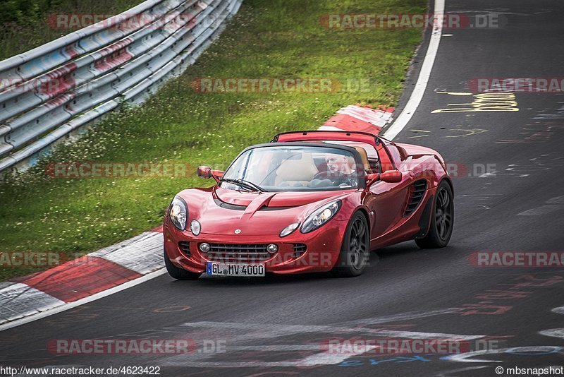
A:
[[[190,188],[178,195],[188,203],[189,220],[198,220],[202,234],[280,234],[302,222],[320,205],[344,198],[357,190],[314,192],[242,192],[214,186]]]

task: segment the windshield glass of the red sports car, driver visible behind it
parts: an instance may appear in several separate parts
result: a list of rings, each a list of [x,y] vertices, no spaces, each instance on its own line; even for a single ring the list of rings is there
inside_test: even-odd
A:
[[[232,190],[326,191],[358,188],[364,171],[352,152],[332,146],[267,146],[247,150],[223,174]],[[239,183],[234,180],[238,180]]]

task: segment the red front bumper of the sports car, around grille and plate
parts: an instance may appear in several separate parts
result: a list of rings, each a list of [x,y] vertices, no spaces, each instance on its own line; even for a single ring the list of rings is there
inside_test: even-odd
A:
[[[245,236],[244,234],[200,234],[195,237],[189,230],[180,232],[168,218],[164,221],[164,251],[171,262],[192,273],[204,273],[208,261],[241,263],[228,259],[220,261],[202,253],[199,245],[209,244],[276,244],[278,251],[266,259],[252,261],[264,263],[266,272],[279,274],[317,273],[329,271],[337,263],[347,222],[330,220],[319,229],[302,234],[300,229],[286,236]],[[183,242],[183,247],[180,247]],[[187,244],[188,243],[188,247]],[[295,244],[305,244],[303,253],[296,253]],[[299,256],[298,256],[299,254]]]

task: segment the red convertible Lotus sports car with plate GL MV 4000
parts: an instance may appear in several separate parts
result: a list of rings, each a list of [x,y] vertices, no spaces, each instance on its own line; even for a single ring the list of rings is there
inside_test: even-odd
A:
[[[357,276],[371,250],[410,239],[440,248],[453,232],[441,155],[370,133],[281,133],[243,150],[226,172],[198,175],[216,184],[180,191],[164,216],[164,261],[179,280]]]

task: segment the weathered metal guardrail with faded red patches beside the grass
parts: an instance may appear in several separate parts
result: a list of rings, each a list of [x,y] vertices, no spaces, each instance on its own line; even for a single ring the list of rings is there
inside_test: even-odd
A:
[[[241,1],[147,0],[0,61],[0,172],[123,102],[146,100],[194,63]]]

